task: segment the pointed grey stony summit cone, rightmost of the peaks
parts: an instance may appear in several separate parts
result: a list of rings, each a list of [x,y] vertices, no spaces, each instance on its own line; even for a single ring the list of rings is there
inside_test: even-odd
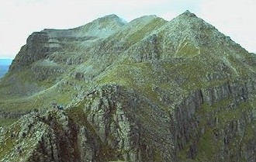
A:
[[[220,44],[224,43],[228,46],[237,46],[230,37],[220,33],[214,26],[195,16],[195,14],[189,12],[189,10],[177,16],[175,19],[172,19],[159,29],[158,33],[158,35],[164,35],[165,39],[167,39],[163,41],[164,43],[172,43],[172,45],[169,44],[168,47],[177,46],[177,49],[180,47],[188,47],[186,50],[197,49],[197,53],[199,53],[200,48],[201,50],[205,48],[207,53],[213,53],[209,52],[209,50],[219,50],[220,47],[223,48]],[[164,47],[165,46],[166,45],[164,45]],[[172,53],[175,53],[175,51],[172,51]]]

